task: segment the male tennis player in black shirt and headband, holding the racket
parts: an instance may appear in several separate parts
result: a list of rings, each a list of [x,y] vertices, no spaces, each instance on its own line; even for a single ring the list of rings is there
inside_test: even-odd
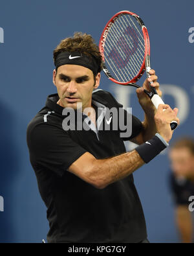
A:
[[[102,59],[92,37],[76,33],[62,40],[54,64],[58,93],[47,97],[27,129],[30,161],[47,206],[48,242],[147,242],[132,173],[166,148],[172,137],[169,124],[179,122],[178,110],[160,105],[156,111],[144,88],[137,89],[146,118],[140,122],[132,116],[132,133],[123,138],[119,127],[113,129],[113,115],[106,118],[105,113],[121,110],[118,121],[126,122],[130,114],[111,93],[97,89]],[[155,71],[150,74],[144,87],[149,89],[152,80],[161,95]],[[84,129],[76,125],[78,104]],[[109,130],[98,129],[101,124]],[[127,140],[140,146],[125,152]]]

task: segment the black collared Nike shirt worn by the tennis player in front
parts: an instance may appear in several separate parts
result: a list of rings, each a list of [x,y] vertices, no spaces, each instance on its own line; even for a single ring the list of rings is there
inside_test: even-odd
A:
[[[120,131],[113,129],[66,131],[63,127],[65,109],[56,104],[58,99],[57,94],[49,95],[46,106],[27,128],[30,162],[47,206],[48,242],[140,242],[146,239],[144,213],[132,174],[104,189],[96,189],[67,171],[85,152],[97,159],[124,153],[124,140],[138,135],[142,123],[132,116],[133,131],[126,138],[121,138]],[[122,108],[111,93],[103,90],[92,93],[92,104]],[[122,110],[126,118],[129,113]],[[103,118],[102,122],[105,120],[108,124],[113,122],[112,117]]]

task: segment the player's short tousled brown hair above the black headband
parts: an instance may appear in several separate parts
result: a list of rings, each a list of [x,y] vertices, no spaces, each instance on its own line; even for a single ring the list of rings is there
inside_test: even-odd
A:
[[[92,56],[98,65],[98,73],[102,71],[102,56],[98,49],[98,45],[89,34],[82,32],[75,32],[72,38],[65,38],[61,40],[59,45],[53,51],[54,62],[59,52],[81,52],[88,56]],[[96,76],[97,74],[94,74]]]

